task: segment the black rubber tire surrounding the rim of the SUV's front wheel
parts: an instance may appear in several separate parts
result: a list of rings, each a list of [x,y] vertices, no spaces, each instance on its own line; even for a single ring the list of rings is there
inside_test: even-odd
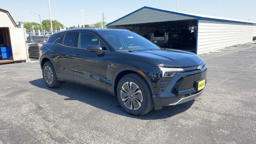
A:
[[[141,106],[138,109],[135,109],[135,106],[132,105],[132,109],[128,108],[122,98],[121,98],[121,90],[122,90],[122,86],[128,82],[127,84],[130,84],[130,82],[135,83],[141,90],[142,92],[142,103]],[[129,87],[130,88],[130,87]],[[134,90],[135,91],[135,90]],[[148,86],[148,83],[146,82],[146,80],[144,78],[142,78],[142,76],[138,75],[138,74],[127,74],[124,77],[122,77],[120,79],[120,81],[118,82],[118,86],[117,86],[117,98],[118,98],[118,102],[120,104],[120,106],[128,113],[133,114],[133,115],[144,115],[148,112],[150,112],[152,110],[152,108],[154,107],[154,102],[153,102],[153,98],[152,98],[152,93],[150,90],[150,87]]]

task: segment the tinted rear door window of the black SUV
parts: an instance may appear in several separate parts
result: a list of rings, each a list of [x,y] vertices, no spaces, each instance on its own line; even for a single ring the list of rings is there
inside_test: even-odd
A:
[[[63,45],[77,47],[78,32],[67,32]]]

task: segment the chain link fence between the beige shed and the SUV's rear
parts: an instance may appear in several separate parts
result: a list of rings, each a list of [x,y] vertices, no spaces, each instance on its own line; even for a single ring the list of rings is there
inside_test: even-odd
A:
[[[30,43],[44,43],[49,37],[56,32],[26,32],[27,42]]]

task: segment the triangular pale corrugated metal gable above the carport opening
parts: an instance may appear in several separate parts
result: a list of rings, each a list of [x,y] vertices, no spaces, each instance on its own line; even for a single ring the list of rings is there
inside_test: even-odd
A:
[[[142,24],[142,23],[149,23],[149,22],[167,22],[167,21],[174,21],[174,20],[190,20],[190,19],[195,19],[195,18],[143,8],[142,10],[139,10],[138,12],[135,12],[125,18],[122,18],[121,20],[118,20],[117,22],[114,22],[109,26],[126,25],[126,24]]]

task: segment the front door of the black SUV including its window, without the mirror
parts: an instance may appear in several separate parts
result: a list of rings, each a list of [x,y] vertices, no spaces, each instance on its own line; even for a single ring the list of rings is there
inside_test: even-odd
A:
[[[102,54],[86,50],[90,45],[100,45]],[[78,48],[74,48],[73,56],[74,81],[107,91],[106,84],[110,84],[106,78],[108,53],[108,48],[98,36],[91,32],[80,32]]]

